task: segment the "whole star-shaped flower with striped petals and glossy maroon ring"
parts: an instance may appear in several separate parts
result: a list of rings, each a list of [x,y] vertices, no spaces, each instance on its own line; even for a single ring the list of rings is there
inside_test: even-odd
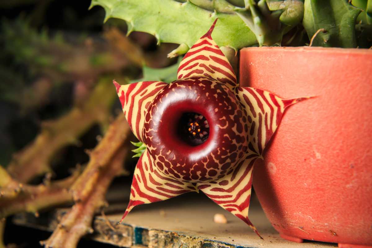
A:
[[[132,131],[146,145],[123,218],[134,206],[201,190],[259,235],[248,219],[253,164],[285,108],[304,98],[239,87],[211,37],[216,21],[187,52],[176,81],[114,81]]]

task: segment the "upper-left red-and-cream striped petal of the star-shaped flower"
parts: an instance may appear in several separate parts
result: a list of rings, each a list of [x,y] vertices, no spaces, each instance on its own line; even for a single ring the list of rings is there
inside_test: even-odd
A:
[[[148,106],[167,83],[159,81],[143,81],[120,85],[113,81],[118,93],[121,106],[134,135],[143,142],[142,130],[145,122],[145,113]]]

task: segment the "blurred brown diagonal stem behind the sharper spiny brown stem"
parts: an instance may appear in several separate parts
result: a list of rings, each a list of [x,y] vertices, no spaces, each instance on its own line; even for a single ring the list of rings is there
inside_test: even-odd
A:
[[[35,140],[13,156],[8,166],[21,183],[51,171],[49,161],[63,146],[78,144],[78,138],[95,123],[107,123],[116,93],[108,78],[102,78],[89,99],[57,120],[45,122]]]

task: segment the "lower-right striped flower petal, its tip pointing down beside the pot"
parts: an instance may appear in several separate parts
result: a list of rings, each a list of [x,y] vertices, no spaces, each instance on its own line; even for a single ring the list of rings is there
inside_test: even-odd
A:
[[[227,176],[213,182],[198,184],[198,189],[215,203],[246,222],[257,235],[257,229],[248,219],[248,208],[252,188],[252,171],[254,161],[258,158],[247,156]],[[260,236],[261,237],[261,236]]]

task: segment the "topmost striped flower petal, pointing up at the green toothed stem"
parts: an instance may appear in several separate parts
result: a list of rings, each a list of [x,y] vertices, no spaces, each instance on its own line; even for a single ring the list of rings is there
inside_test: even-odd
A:
[[[183,57],[177,72],[178,79],[198,76],[220,81],[230,88],[237,86],[234,70],[211,36],[216,22],[217,19]]]

